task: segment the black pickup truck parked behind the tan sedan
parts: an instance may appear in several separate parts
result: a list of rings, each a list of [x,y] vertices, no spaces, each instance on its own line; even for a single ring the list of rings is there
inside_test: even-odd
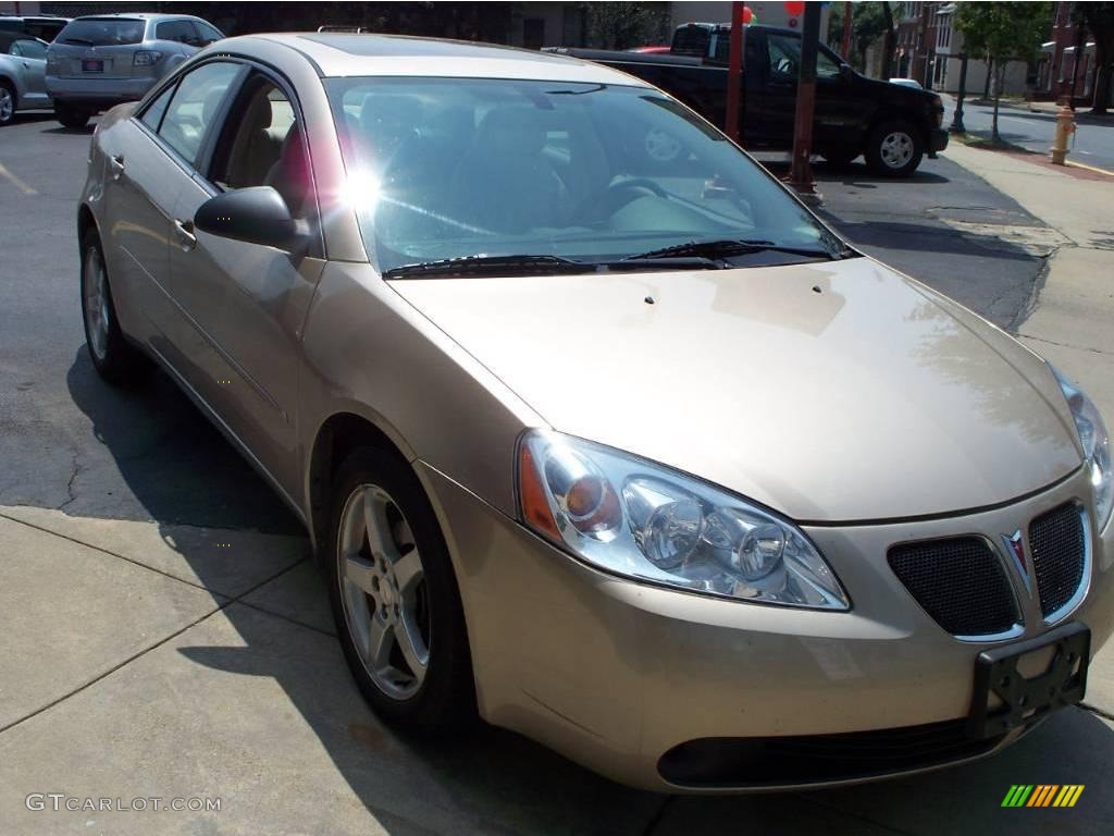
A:
[[[723,128],[730,38],[727,25],[686,23],[677,28],[670,51],[664,54],[555,51],[644,78]],[[790,150],[801,35],[792,29],[747,26],[744,43],[740,113],[743,146],[751,150]],[[944,105],[936,94],[867,78],[820,46],[812,144],[824,159],[843,164],[862,154],[879,174],[908,176],[925,154],[935,157],[947,147],[942,119]]]

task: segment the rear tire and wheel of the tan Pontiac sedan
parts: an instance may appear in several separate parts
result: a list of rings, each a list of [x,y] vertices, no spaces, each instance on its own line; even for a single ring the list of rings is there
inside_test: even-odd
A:
[[[140,382],[149,364],[120,330],[105,252],[96,230],[88,230],[81,239],[81,321],[97,373],[113,386]]]

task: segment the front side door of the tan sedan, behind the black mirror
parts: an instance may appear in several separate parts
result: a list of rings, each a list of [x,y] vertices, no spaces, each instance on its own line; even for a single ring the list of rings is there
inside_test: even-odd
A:
[[[291,214],[316,230],[317,210],[302,116],[291,88],[255,69],[182,191],[170,281],[186,319],[207,346],[203,397],[264,468],[297,493],[296,419],[300,334],[324,264],[307,253],[218,237],[194,229],[197,210],[229,189],[271,185]],[[309,255],[309,257],[307,257]]]

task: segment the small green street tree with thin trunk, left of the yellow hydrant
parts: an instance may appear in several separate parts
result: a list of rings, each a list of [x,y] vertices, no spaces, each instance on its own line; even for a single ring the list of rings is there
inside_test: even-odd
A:
[[[1048,32],[1052,4],[1047,2],[961,2],[956,9],[956,30],[964,36],[968,55],[985,56],[994,72],[994,123],[990,142],[998,136],[998,105],[1009,61],[1032,61]]]

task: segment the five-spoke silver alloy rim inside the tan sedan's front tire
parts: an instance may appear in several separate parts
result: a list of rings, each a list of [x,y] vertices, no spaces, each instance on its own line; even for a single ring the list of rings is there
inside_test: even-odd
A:
[[[409,699],[429,669],[429,600],[413,532],[387,490],[365,484],[349,495],[336,551],[344,621],[360,661],[384,694]]]

